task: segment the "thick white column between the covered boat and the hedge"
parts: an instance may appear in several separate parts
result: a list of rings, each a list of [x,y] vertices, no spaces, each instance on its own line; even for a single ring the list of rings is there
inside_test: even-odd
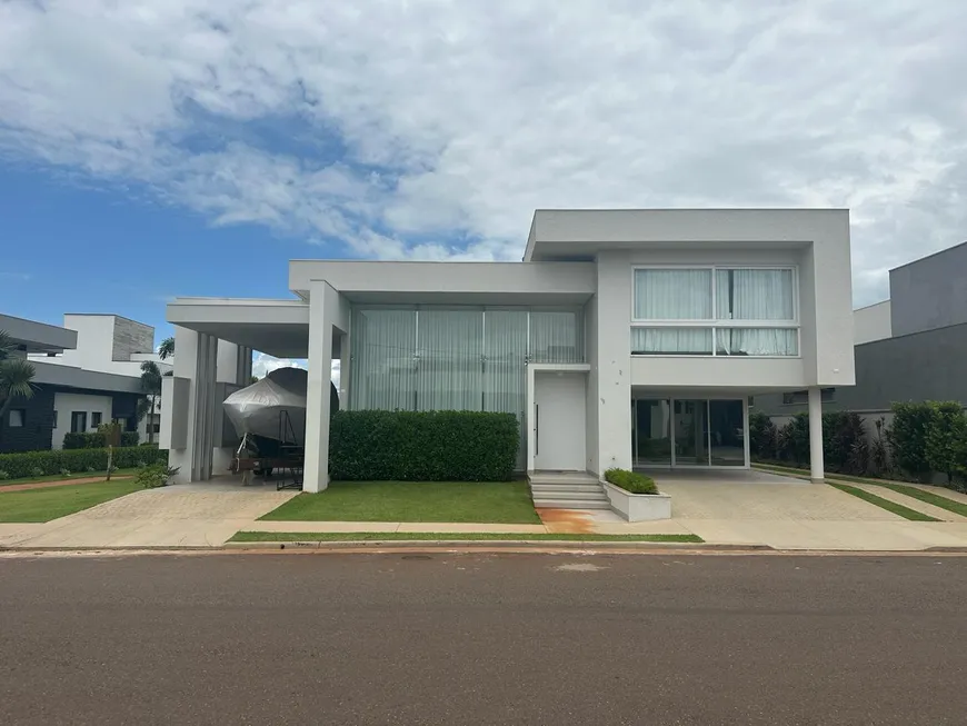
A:
[[[309,376],[306,390],[303,491],[329,486],[329,381],[332,377],[332,315],[338,294],[313,281],[309,291]]]

